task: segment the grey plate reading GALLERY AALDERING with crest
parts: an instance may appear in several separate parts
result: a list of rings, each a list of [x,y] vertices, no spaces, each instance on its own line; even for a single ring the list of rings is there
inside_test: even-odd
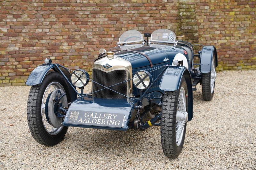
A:
[[[122,128],[124,114],[70,110],[67,123]]]

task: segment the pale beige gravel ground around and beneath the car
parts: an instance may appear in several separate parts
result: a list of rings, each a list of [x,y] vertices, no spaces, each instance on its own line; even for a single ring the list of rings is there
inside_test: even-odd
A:
[[[256,70],[220,72],[212,101],[194,92],[177,159],[164,156],[160,127],[144,132],[70,127],[58,145],[31,136],[26,117],[30,87],[0,87],[0,169],[255,169]]]

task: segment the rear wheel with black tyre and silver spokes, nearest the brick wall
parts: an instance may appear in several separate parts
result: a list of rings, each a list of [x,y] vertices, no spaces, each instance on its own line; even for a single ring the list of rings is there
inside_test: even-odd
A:
[[[212,100],[216,79],[215,71],[215,55],[213,54],[211,71],[209,73],[202,73],[202,92],[203,99],[206,101]]]

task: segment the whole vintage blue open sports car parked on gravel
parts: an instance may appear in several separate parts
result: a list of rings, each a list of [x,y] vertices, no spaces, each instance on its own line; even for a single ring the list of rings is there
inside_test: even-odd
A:
[[[26,85],[31,85],[27,117],[34,139],[58,144],[69,126],[124,131],[161,126],[164,154],[177,158],[193,117],[192,91],[200,83],[203,99],[212,99],[217,52],[214,46],[199,45],[194,54],[193,45],[177,41],[167,29],[144,37],[129,30],[116,48],[100,49],[92,78],[48,58],[33,70]],[[194,63],[195,56],[200,63]],[[84,94],[89,81],[92,92]]]

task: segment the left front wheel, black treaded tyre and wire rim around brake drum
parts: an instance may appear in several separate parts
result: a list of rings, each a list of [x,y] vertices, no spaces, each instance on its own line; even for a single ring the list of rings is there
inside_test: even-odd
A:
[[[45,114],[46,99],[55,89],[68,92],[66,80],[57,72],[48,72],[42,84],[31,87],[28,95],[27,119],[32,137],[39,144],[52,146],[64,138],[68,127],[54,128]],[[67,96],[68,97],[68,96]]]

